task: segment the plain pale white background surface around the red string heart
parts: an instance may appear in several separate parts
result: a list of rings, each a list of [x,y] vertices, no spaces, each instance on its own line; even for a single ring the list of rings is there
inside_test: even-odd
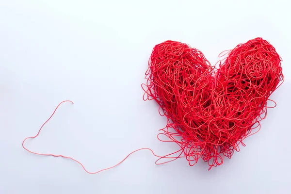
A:
[[[290,0],[0,0],[0,194],[290,194]],[[89,175],[75,162],[26,152],[56,105],[63,104],[33,151],[71,156],[89,171],[159,142],[165,118],[143,101],[152,48],[171,39],[218,54],[255,37],[283,58],[285,82],[271,96],[259,133],[231,160],[208,171],[185,159],[155,165],[149,151]]]

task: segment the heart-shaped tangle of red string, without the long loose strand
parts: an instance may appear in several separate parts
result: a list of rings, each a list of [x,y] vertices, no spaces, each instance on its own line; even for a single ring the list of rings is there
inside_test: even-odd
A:
[[[221,165],[259,131],[268,98],[284,79],[281,61],[262,38],[236,46],[218,69],[187,44],[168,40],[156,45],[142,86],[144,100],[154,99],[167,117],[159,135],[178,144],[177,158],[185,157],[191,166],[199,158],[209,170]]]

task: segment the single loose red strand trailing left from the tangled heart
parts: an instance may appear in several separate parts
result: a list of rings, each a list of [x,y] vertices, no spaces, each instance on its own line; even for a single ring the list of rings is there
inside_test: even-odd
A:
[[[179,158],[179,157],[169,157],[170,155],[172,155],[172,154],[175,154],[175,153],[177,153],[178,151],[180,151],[180,150],[178,150],[178,151],[176,151],[176,152],[173,152],[173,153],[171,153],[171,154],[168,154],[168,155],[166,155],[166,156],[158,156],[158,155],[156,155],[154,152],[153,152],[153,150],[152,149],[150,149],[150,148],[147,148],[147,147],[144,147],[144,148],[140,148],[140,149],[136,149],[136,150],[134,150],[134,151],[132,151],[132,152],[130,152],[121,162],[118,162],[117,164],[115,164],[115,165],[113,165],[113,166],[111,166],[111,167],[108,167],[108,168],[104,168],[104,169],[101,169],[101,170],[98,170],[97,172],[89,172],[88,170],[86,170],[86,168],[84,167],[84,165],[81,163],[81,162],[79,162],[79,161],[77,161],[77,160],[75,160],[74,158],[71,158],[71,157],[67,157],[67,156],[63,156],[63,155],[54,155],[54,154],[42,154],[42,153],[37,153],[37,152],[33,152],[33,151],[31,151],[31,150],[29,150],[29,149],[27,149],[25,146],[24,146],[24,143],[25,143],[25,141],[27,140],[27,139],[34,139],[34,138],[36,138],[38,135],[39,135],[39,133],[40,133],[40,131],[42,130],[42,128],[49,122],[49,120],[51,119],[51,117],[54,115],[54,113],[57,111],[57,109],[59,108],[59,106],[62,104],[62,103],[64,103],[64,102],[71,102],[72,104],[74,104],[74,102],[73,101],[71,101],[71,100],[65,100],[65,101],[62,101],[56,108],[55,108],[55,110],[54,110],[54,112],[51,114],[51,116],[49,117],[49,119],[41,126],[41,128],[38,130],[38,132],[37,132],[37,134],[35,135],[35,136],[33,136],[33,137],[27,137],[27,138],[25,138],[24,140],[23,140],[23,142],[22,142],[22,147],[25,149],[25,150],[27,150],[28,152],[30,152],[30,153],[32,153],[32,154],[36,154],[36,155],[41,155],[41,156],[53,156],[53,157],[62,157],[62,158],[66,158],[66,159],[70,159],[70,160],[72,160],[72,161],[75,161],[75,162],[77,162],[77,163],[79,163],[81,166],[82,166],[82,168],[87,172],[87,173],[89,173],[89,174],[97,174],[97,173],[99,173],[99,172],[101,172],[101,171],[105,171],[105,170],[109,170],[109,169],[111,169],[111,168],[114,168],[115,166],[117,166],[117,165],[119,165],[120,163],[122,163],[123,161],[125,161],[131,154],[133,154],[134,152],[137,152],[137,151],[139,151],[139,150],[144,150],[144,149],[147,149],[147,150],[149,150],[149,151],[151,151],[151,153],[154,155],[154,156],[156,156],[156,157],[158,157],[159,159],[156,161],[156,164],[164,164],[164,163],[167,163],[167,162],[172,162],[172,161],[174,161],[174,160],[176,160],[177,158]],[[167,161],[167,162],[162,162],[162,163],[157,163],[159,160],[161,160],[161,159],[173,159],[173,160],[170,160],[170,161]]]

